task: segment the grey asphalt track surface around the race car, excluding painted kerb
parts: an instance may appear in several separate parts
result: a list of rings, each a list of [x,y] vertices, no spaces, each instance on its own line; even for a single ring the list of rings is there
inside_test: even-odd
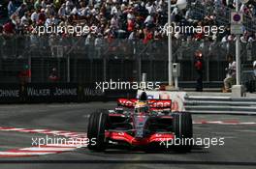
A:
[[[113,108],[114,102],[66,104],[0,105],[0,127],[67,130],[85,133],[88,114],[98,108]],[[73,151],[23,157],[0,156],[0,168],[256,168],[256,116],[193,115],[195,138],[224,137],[223,146],[194,146],[191,153],[107,150],[93,153],[86,148]],[[240,124],[208,124],[208,122],[241,122]],[[0,152],[31,147],[32,137],[44,133],[0,130]]]

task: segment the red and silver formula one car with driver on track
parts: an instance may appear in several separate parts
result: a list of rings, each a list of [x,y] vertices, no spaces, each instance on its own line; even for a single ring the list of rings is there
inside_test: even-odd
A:
[[[171,99],[146,99],[143,93],[140,99],[118,99],[117,104],[115,110],[101,109],[90,115],[89,150],[105,151],[112,144],[148,150],[174,139],[185,142],[171,149],[178,152],[191,150],[192,145],[186,144],[193,137],[191,114],[172,112]]]

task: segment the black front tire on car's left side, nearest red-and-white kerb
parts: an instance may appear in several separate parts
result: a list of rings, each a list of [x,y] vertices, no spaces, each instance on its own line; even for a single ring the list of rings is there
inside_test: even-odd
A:
[[[87,137],[89,139],[88,149],[95,152],[105,151],[107,142],[105,130],[108,124],[108,110],[98,110],[89,117]]]

